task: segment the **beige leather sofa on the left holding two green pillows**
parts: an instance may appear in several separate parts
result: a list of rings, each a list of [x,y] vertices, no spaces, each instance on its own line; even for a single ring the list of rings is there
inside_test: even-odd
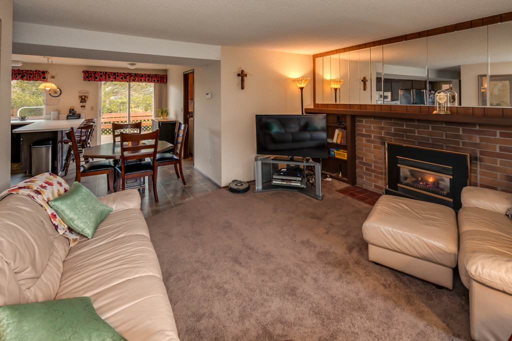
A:
[[[179,341],[139,193],[99,200],[114,212],[71,248],[27,196],[0,201],[0,306],[88,296],[129,341]]]

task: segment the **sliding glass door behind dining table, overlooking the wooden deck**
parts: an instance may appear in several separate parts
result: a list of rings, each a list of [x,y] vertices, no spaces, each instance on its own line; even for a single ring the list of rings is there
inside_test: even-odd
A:
[[[151,131],[152,118],[153,83],[101,82],[102,143],[112,142],[113,122],[140,121],[142,131]]]

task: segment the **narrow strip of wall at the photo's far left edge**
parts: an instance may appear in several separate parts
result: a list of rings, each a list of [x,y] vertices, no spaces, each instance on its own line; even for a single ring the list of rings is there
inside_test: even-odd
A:
[[[11,54],[12,0],[0,0],[0,192],[11,187]]]

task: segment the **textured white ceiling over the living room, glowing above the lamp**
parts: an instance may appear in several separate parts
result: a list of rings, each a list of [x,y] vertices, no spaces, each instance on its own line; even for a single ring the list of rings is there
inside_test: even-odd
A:
[[[510,0],[14,0],[14,20],[314,54],[512,11]]]

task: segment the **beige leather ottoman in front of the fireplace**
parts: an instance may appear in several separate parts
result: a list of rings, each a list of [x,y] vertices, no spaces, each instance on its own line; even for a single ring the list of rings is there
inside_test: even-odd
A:
[[[457,217],[436,203],[383,195],[362,225],[370,261],[452,289]]]

